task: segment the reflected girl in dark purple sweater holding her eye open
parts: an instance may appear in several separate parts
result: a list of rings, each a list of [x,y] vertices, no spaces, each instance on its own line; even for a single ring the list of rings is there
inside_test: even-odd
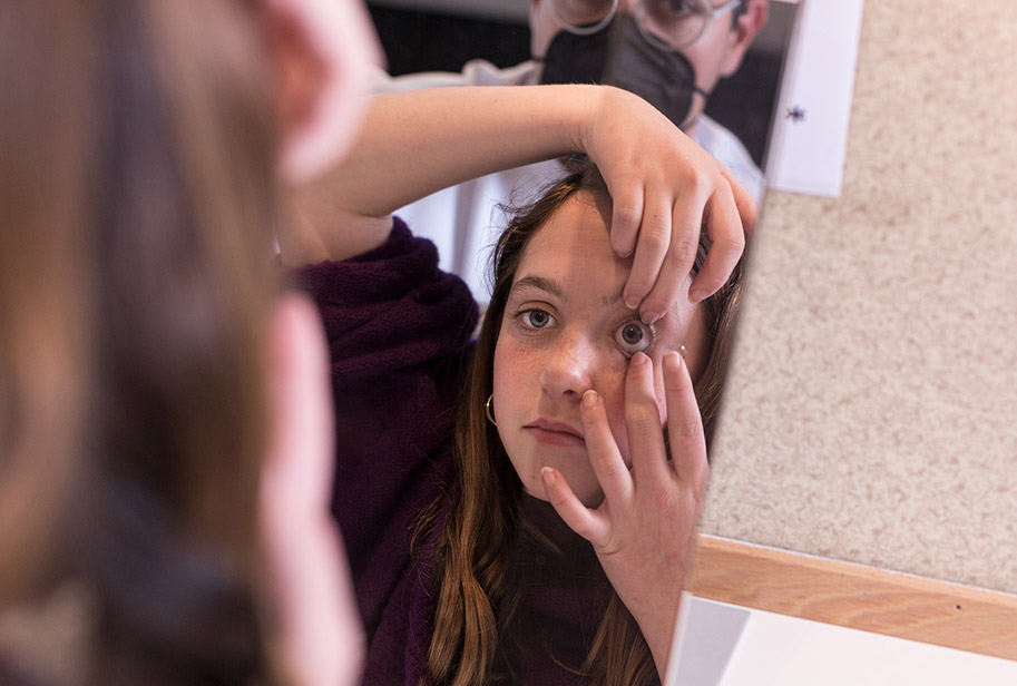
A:
[[[509,226],[475,350],[469,291],[385,213],[573,151],[605,180],[584,169]],[[330,339],[333,511],[365,683],[664,674],[707,472],[692,379],[712,422],[727,273],[753,219],[700,155],[610,88],[417,91],[375,100],[348,164],[304,198],[280,244],[285,263],[310,265],[300,277]],[[708,257],[679,231],[690,217],[706,220]]]

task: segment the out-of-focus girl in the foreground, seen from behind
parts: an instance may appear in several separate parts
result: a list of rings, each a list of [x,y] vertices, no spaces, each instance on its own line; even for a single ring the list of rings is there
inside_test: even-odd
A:
[[[0,683],[359,679],[320,325],[268,255],[370,40],[346,1],[0,2]]]

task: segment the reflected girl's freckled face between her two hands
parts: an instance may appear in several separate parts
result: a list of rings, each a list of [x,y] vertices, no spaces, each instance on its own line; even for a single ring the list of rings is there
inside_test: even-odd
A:
[[[569,198],[530,239],[506,303],[495,347],[492,410],[498,434],[527,492],[545,498],[540,470],[554,467],[585,504],[604,498],[586,453],[579,401],[594,389],[626,463],[625,373],[637,352],[654,362],[661,423],[666,419],[659,362],[685,345],[695,379],[706,360],[705,322],[685,301],[653,325],[622,302],[632,258],[610,248],[610,209],[587,193]]]

